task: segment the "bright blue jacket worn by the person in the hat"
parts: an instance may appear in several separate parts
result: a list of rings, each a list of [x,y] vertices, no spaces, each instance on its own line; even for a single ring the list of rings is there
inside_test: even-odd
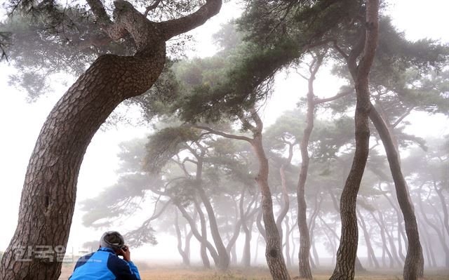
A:
[[[76,262],[69,280],[140,280],[133,262],[119,258],[111,248],[100,248]]]

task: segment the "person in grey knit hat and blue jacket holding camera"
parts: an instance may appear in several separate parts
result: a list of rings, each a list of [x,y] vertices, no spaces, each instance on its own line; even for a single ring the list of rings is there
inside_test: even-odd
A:
[[[105,232],[98,251],[79,258],[69,280],[78,279],[140,280],[138,268],[131,262],[129,248],[119,232]]]

